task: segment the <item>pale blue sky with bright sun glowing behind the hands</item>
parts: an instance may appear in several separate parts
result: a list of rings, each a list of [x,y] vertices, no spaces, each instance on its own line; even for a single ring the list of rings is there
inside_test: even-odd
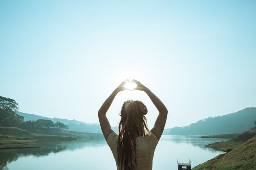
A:
[[[166,128],[256,107],[254,0],[0,0],[0,96],[19,111],[99,123],[97,112],[125,79],[168,109]],[[108,110],[141,100],[120,92]]]

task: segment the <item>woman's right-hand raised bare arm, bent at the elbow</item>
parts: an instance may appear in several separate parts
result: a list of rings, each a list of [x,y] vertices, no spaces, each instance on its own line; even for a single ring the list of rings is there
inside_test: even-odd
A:
[[[154,93],[152,93],[148,88],[146,88],[143,84],[141,84],[137,80],[132,80],[132,82],[135,82],[137,84],[137,88],[135,88],[135,90],[144,91],[148,95],[148,97],[151,99],[151,101],[153,102],[157,110],[159,111],[159,115],[155,121],[155,125],[150,130],[159,140],[164,131],[168,110],[164,106],[164,104],[161,102],[161,100]]]

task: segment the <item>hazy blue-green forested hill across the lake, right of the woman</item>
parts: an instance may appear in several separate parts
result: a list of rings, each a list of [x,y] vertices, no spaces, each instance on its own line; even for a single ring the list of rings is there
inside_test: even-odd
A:
[[[189,126],[164,130],[164,135],[218,135],[241,133],[255,126],[256,108],[245,108],[228,115],[208,117]]]

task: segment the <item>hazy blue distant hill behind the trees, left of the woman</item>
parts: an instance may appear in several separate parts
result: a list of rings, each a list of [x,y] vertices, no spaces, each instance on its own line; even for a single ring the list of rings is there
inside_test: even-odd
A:
[[[49,117],[43,117],[43,116],[38,116],[38,115],[34,115],[34,114],[29,114],[29,113],[22,113],[22,112],[19,112],[19,111],[17,111],[16,113],[20,116],[23,116],[24,121],[28,121],[28,120],[32,121],[32,120],[37,120],[37,119],[47,119],[47,120],[53,121],[54,123],[56,121],[59,121],[59,122],[65,124],[65,125],[67,125],[69,127],[69,130],[73,130],[73,131],[76,131],[76,132],[92,132],[92,133],[100,132],[100,133],[102,133],[101,126],[99,124],[88,124],[88,123],[85,123],[83,121],[77,121],[75,119],[68,120],[68,119],[60,119],[60,118],[57,118],[57,117],[49,118]],[[118,131],[117,127],[112,127],[112,129],[115,130],[116,132]]]

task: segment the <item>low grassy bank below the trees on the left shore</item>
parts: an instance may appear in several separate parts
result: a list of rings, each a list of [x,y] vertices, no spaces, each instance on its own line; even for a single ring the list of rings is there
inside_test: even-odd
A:
[[[72,141],[76,139],[103,139],[102,134],[62,131],[59,135],[49,135],[48,130],[22,130],[20,128],[0,127],[0,149],[42,147],[40,142]]]

